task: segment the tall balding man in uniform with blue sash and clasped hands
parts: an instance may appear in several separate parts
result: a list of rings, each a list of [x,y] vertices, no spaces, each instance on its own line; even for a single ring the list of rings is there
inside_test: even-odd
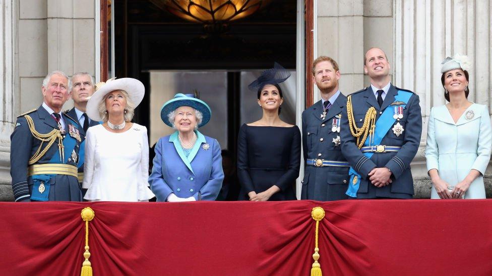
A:
[[[371,85],[347,99],[342,113],[342,152],[351,167],[347,195],[357,199],[410,199],[410,162],[422,133],[419,99],[393,86],[383,50],[369,49],[364,71]]]

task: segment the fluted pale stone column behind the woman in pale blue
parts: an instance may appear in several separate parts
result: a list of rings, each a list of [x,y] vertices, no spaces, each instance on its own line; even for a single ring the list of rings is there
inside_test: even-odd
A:
[[[473,60],[468,99],[490,107],[492,92],[490,4],[476,0],[395,0],[395,82],[420,97],[423,131],[412,162],[416,197],[430,197],[425,166],[425,140],[430,108],[445,104],[441,62],[456,53]],[[490,108],[489,108],[490,110]],[[490,197],[490,173],[485,180]]]

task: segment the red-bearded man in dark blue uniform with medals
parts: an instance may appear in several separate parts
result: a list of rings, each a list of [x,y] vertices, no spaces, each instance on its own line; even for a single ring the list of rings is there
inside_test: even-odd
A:
[[[320,56],[313,62],[313,81],[321,100],[302,112],[302,148],[306,166],[301,199],[347,199],[349,164],[340,149],[341,113],[347,98],[338,89],[335,60]]]

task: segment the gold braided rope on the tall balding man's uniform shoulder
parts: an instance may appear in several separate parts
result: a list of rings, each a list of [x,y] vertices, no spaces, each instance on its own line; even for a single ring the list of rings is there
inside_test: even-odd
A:
[[[357,125],[355,124],[355,118],[353,117],[352,95],[348,96],[347,98],[348,126],[350,128],[350,132],[352,133],[352,136],[357,138],[356,144],[358,148],[362,147],[362,145],[365,142],[365,139],[367,139],[367,135],[370,135],[370,137],[373,136],[374,130],[376,128],[376,113],[377,111],[374,107],[368,109],[367,112],[365,113],[364,124],[362,125],[362,127],[357,128]],[[362,136],[362,139],[360,139],[360,136]]]

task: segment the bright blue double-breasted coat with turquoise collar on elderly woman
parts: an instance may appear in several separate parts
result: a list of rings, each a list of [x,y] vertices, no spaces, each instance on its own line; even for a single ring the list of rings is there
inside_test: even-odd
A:
[[[150,189],[157,201],[174,193],[178,198],[213,201],[217,198],[224,172],[219,142],[196,131],[197,141],[186,157],[178,132],[159,139],[155,145]]]

